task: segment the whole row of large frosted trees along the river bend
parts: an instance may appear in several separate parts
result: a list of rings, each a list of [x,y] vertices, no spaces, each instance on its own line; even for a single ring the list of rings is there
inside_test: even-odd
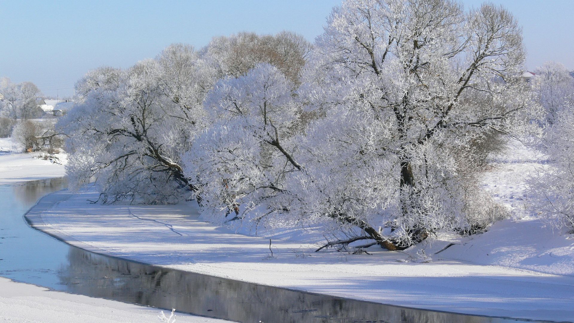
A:
[[[544,118],[524,57],[508,11],[447,0],[344,1],[314,45],[172,45],[77,83],[68,175],[97,178],[102,202],[193,197],[206,220],[320,226],[335,243],[482,232],[505,216],[480,188],[486,157]]]

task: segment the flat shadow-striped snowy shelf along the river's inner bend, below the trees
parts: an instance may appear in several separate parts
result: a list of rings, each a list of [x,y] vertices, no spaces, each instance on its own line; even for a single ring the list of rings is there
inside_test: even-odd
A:
[[[25,217],[33,228],[65,243],[141,264],[303,293],[447,313],[550,321],[569,321],[574,317],[574,310],[568,306],[574,301],[574,279],[565,276],[453,261],[405,264],[395,262],[397,256],[389,259],[386,255],[375,255],[379,259],[346,255],[352,259],[342,260],[336,253],[325,253],[319,257],[307,254],[305,258],[304,249],[297,251],[301,250],[301,244],[281,242],[273,245],[277,248],[274,258],[265,258],[264,251],[269,252],[267,239],[225,232],[189,218],[181,207],[87,204],[86,200],[94,198],[94,194],[97,196],[94,191],[86,190],[46,195]],[[147,234],[142,237],[138,234],[142,232]],[[209,234],[216,239],[205,241],[210,239]],[[228,244],[230,239],[239,241]],[[206,248],[210,246],[213,247]],[[202,257],[205,253],[207,256]],[[285,259],[288,253],[291,259]],[[312,260],[298,261],[301,259]],[[373,268],[363,272],[361,268],[366,266],[375,267],[375,272]],[[380,274],[389,267],[394,267],[394,272],[387,270],[388,275]],[[412,268],[418,271],[396,275]],[[451,272],[442,275],[436,272],[448,268]],[[425,274],[421,275],[421,271]]]

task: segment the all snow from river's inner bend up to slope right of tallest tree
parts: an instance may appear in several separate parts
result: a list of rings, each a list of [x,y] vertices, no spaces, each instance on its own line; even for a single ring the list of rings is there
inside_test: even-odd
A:
[[[544,167],[544,158],[519,146],[508,156],[485,179],[512,210],[508,220],[471,237],[433,237],[406,253],[313,252],[309,239],[320,238],[313,232],[236,234],[202,221],[193,201],[91,204],[88,199],[98,199],[94,187],[48,195],[42,202],[52,207],[32,210],[29,219],[77,247],[180,270],[393,305],[574,321],[573,236],[553,232],[522,209],[524,178]],[[430,257],[407,254],[421,249]]]

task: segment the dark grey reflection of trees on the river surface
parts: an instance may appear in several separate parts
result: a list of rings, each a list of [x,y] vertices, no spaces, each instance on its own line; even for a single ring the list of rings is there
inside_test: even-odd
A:
[[[239,322],[484,323],[502,319],[411,310],[146,266],[70,248],[61,282],[71,293]]]

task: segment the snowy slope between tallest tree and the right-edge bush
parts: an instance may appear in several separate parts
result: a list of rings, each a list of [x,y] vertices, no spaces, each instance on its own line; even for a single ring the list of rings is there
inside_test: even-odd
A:
[[[528,203],[523,192],[525,178],[537,169],[548,167],[546,156],[515,143],[494,161],[484,186],[492,191],[495,201],[509,207],[511,217],[497,222],[486,233],[453,239],[450,242],[458,244],[440,256],[574,276],[574,234],[546,225],[523,207]]]

